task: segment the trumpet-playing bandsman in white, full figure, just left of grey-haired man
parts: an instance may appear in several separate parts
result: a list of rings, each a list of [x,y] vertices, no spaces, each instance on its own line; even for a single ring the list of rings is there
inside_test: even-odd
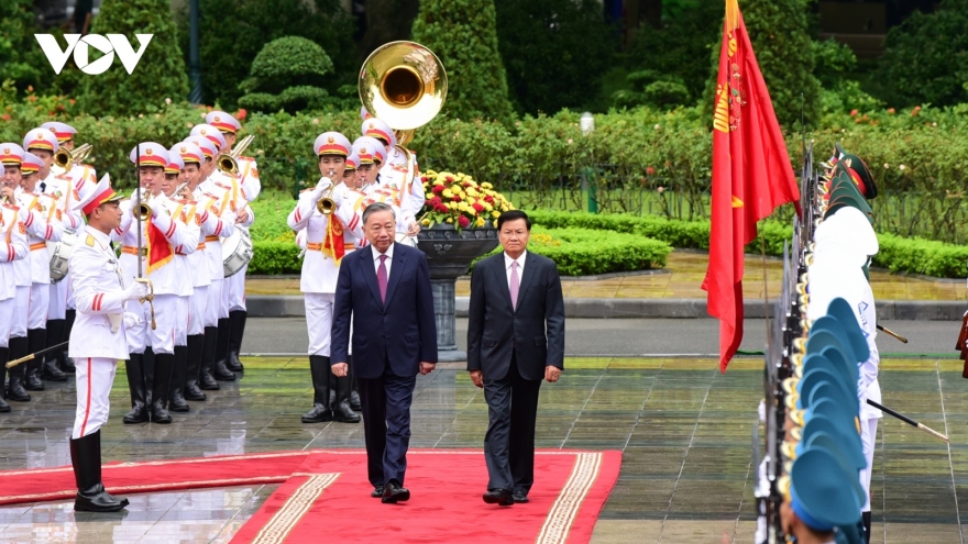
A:
[[[322,177],[316,188],[299,193],[299,202],[288,217],[290,229],[306,232],[306,257],[299,288],[306,298],[314,407],[302,414],[304,423],[361,421],[350,406],[351,377],[336,377],[329,360],[340,262],[355,246],[352,242],[346,245],[346,233],[352,238],[363,237],[360,214],[353,210],[349,190],[341,181],[350,147],[350,141],[338,132],[324,132],[316,138],[314,151],[319,157]],[[336,389],[332,407],[331,389]]]

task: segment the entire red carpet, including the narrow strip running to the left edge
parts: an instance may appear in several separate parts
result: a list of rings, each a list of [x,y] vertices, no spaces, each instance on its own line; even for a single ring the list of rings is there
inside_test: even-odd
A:
[[[411,499],[370,498],[366,454],[312,449],[107,465],[118,495],[284,482],[235,534],[235,543],[588,542],[618,479],[620,452],[538,451],[527,504],[485,504],[481,451],[411,449]],[[72,468],[0,471],[0,504],[70,499]]]

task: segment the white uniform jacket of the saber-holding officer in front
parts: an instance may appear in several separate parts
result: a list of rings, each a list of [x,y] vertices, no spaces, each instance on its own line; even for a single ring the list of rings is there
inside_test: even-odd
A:
[[[70,330],[70,357],[127,359],[128,338],[122,324],[124,279],[110,237],[85,226],[68,266],[77,303],[77,321]]]

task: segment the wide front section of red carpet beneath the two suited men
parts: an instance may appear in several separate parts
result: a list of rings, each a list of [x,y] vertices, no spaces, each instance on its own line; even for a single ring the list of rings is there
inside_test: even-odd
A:
[[[370,498],[366,455],[314,454],[235,534],[233,543],[588,542],[622,464],[619,452],[539,451],[531,502],[485,504],[482,452],[411,449],[411,498]]]

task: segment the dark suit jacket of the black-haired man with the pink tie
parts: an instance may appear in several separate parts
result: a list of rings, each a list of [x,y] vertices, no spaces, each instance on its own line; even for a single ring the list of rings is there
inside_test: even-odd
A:
[[[468,370],[485,379],[502,379],[512,351],[525,379],[542,379],[548,365],[564,368],[564,300],[558,266],[528,252],[518,289],[517,310],[510,306],[504,252],[474,265],[468,315]]]

